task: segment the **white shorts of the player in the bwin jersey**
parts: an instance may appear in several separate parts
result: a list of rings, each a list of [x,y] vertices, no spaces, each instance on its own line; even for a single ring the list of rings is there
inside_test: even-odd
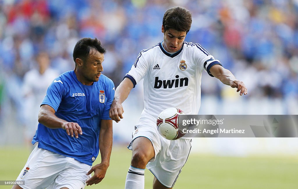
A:
[[[162,185],[172,188],[187,161],[191,139],[167,140],[158,133],[156,123],[149,119],[142,119],[135,126],[128,149],[132,150],[132,143],[137,137],[148,138],[155,151],[155,157],[150,159],[146,168]]]

